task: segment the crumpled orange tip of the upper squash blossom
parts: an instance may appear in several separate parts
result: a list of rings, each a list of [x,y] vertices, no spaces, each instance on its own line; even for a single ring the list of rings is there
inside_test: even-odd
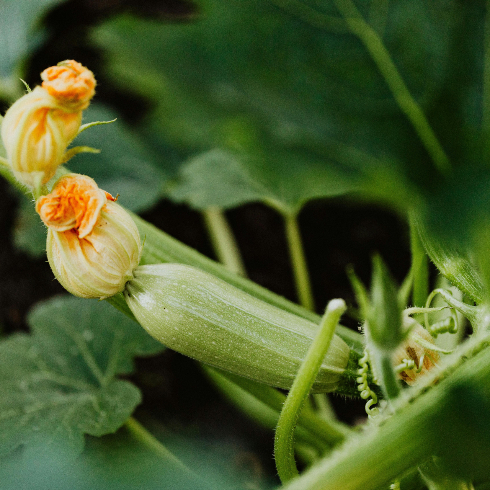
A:
[[[75,60],[66,60],[41,73],[42,87],[72,112],[86,109],[95,93],[94,74]]]

